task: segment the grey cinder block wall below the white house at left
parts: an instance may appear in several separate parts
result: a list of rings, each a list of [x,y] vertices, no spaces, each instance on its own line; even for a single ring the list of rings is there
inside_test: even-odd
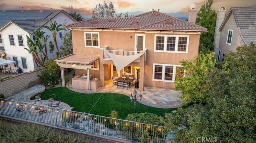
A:
[[[28,89],[36,84],[40,84],[40,71],[46,68],[38,69],[32,72],[24,72],[16,76],[6,78],[0,81],[0,94],[4,94],[4,98],[8,98],[22,90]]]

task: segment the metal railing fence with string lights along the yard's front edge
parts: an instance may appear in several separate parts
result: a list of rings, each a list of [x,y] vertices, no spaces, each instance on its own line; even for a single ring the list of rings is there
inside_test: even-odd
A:
[[[132,142],[167,143],[164,127],[0,98],[0,114]]]

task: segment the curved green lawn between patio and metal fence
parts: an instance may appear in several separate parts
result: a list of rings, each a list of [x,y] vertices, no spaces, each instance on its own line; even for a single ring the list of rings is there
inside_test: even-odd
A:
[[[46,89],[40,94],[42,95],[42,100],[47,100],[49,95],[56,94],[55,100],[65,102],[70,107],[74,107],[74,111],[78,112],[90,112],[90,114],[110,117],[110,112],[116,110],[120,119],[125,119],[128,114],[134,113],[134,102],[131,102],[130,97],[123,94],[85,94],[74,92],[66,87]],[[96,102],[97,104],[94,106]],[[164,117],[164,113],[172,110],[176,110],[176,108],[162,109],[146,106],[139,102],[136,104],[136,113],[150,112]]]

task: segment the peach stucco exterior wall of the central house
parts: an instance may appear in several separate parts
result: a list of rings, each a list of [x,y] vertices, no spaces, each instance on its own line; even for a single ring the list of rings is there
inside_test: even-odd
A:
[[[85,47],[84,32],[82,30],[72,30],[73,39],[73,49],[74,54],[77,55],[92,55],[99,56],[99,48]],[[169,65],[180,65],[180,61],[192,60],[198,54],[200,34],[198,32],[158,32],[150,31],[145,33],[145,31],[128,31],[128,30],[114,30],[114,31],[86,31],[86,32],[98,32],[99,33],[99,47],[102,48],[108,45],[107,49],[119,50],[124,49],[126,51],[135,51],[135,36],[136,34],[145,35],[145,48],[146,51],[146,65],[144,71],[144,86],[154,86],[162,88],[174,88],[174,82],[163,82],[163,81],[153,81],[153,64],[169,64]],[[185,35],[189,36],[188,43],[188,53],[167,53],[167,52],[155,52],[154,51],[154,39],[155,35]],[[114,64],[112,60],[100,59],[104,65]],[[128,66],[140,66],[139,62],[132,62]],[[109,75],[109,72],[104,69],[105,80]],[[121,72],[122,73],[122,70]],[[133,69],[134,73],[134,69]],[[140,80],[140,82],[143,82]]]

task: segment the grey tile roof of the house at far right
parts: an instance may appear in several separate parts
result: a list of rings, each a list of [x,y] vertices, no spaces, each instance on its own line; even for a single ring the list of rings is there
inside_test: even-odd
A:
[[[246,45],[256,43],[256,6],[231,7],[241,39]]]

